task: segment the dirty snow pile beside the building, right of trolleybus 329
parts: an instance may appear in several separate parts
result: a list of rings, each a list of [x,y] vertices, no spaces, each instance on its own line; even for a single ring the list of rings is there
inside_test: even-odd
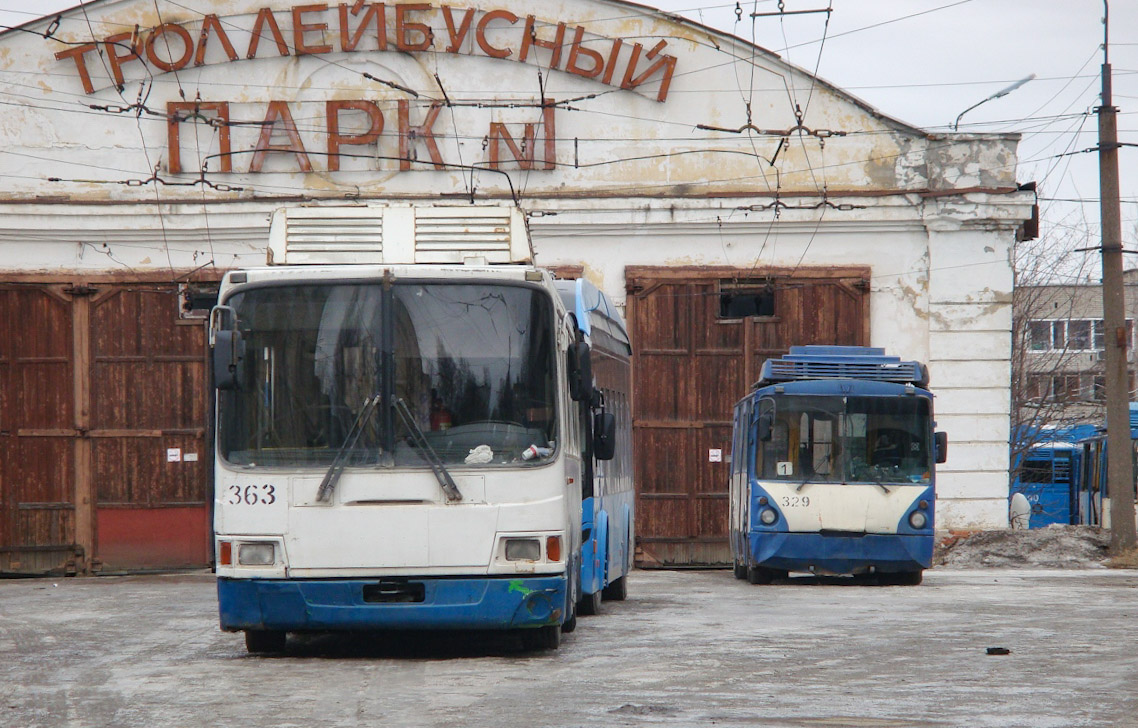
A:
[[[933,565],[1100,569],[1106,565],[1110,544],[1110,531],[1089,526],[954,533],[937,544]]]

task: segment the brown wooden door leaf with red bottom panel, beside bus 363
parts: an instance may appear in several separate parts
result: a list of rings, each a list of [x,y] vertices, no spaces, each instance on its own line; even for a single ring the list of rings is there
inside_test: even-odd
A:
[[[178,289],[168,284],[104,289],[91,308],[98,565],[205,565],[205,323],[180,318]]]

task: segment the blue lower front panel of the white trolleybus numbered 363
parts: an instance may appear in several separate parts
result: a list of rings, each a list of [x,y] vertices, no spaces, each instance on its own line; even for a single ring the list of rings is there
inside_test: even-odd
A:
[[[513,629],[564,621],[566,578],[217,579],[226,631]]]

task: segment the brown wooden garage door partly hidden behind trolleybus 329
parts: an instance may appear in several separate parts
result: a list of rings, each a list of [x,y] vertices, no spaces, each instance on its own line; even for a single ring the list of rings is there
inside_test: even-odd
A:
[[[868,276],[861,267],[626,270],[641,565],[731,563],[732,408],[762,362],[791,346],[866,345]]]

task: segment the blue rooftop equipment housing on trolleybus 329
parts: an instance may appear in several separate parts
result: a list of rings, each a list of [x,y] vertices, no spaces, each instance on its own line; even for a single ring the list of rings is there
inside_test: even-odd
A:
[[[929,370],[920,362],[902,362],[876,347],[792,346],[782,358],[762,363],[754,386],[811,379],[857,379],[927,387]]]

